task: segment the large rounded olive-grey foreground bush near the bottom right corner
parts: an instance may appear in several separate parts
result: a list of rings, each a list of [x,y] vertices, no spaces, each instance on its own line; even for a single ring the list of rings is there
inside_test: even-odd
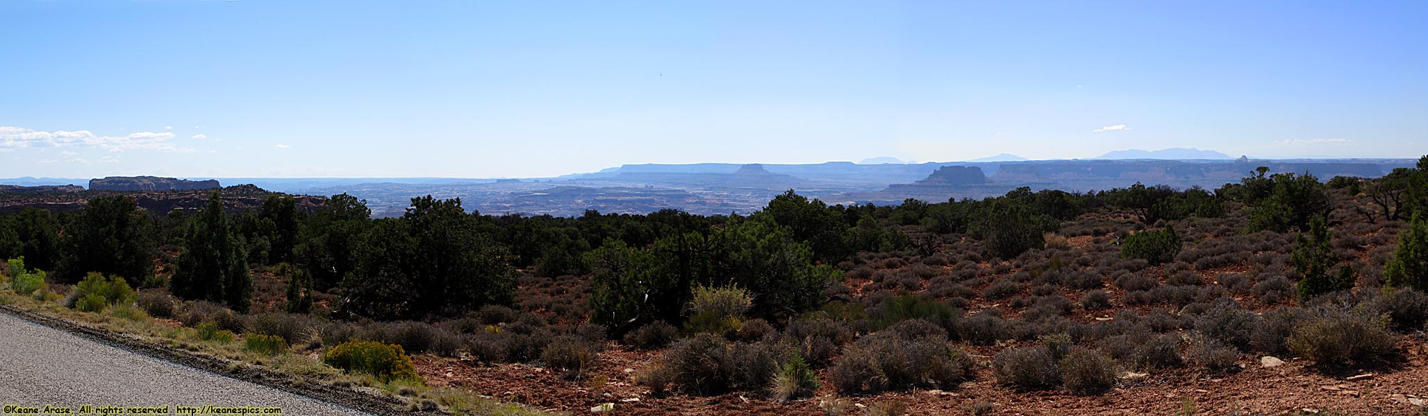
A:
[[[1317,363],[1347,363],[1394,350],[1394,335],[1385,316],[1368,316],[1337,309],[1318,309],[1294,328],[1289,350]]]

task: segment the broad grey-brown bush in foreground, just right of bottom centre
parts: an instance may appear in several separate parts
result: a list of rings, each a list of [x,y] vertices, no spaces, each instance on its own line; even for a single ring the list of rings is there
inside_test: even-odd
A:
[[[858,339],[844,349],[830,375],[843,392],[951,389],[971,378],[972,359],[947,342],[940,326],[914,319]]]

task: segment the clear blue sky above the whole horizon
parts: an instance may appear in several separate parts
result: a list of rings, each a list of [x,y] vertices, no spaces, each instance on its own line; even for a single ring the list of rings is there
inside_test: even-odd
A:
[[[1428,154],[1428,1],[0,0],[0,177]]]

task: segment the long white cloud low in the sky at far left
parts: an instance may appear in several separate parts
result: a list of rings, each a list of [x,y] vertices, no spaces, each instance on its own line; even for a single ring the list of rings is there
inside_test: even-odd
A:
[[[99,148],[110,152],[129,150],[151,150],[169,152],[193,152],[193,148],[177,147],[169,142],[173,132],[140,131],[129,135],[99,135],[87,130],[79,131],[36,131],[21,127],[0,125],[0,151],[16,148],[46,148],[46,147],[81,147]]]

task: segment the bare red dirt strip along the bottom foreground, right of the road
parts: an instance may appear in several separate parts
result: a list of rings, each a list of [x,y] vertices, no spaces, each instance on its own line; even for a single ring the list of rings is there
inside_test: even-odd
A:
[[[877,400],[900,400],[907,415],[972,415],[977,402],[994,403],[987,415],[1425,415],[1417,403],[1428,400],[1428,348],[1404,342],[1402,359],[1368,369],[1317,369],[1301,360],[1261,368],[1258,359],[1241,359],[1244,370],[1211,375],[1191,369],[1161,370],[1101,396],[1075,396],[1064,390],[1015,392],[997,386],[991,370],[952,392],[911,390],[878,396],[845,397],[848,415]],[[481,366],[470,360],[418,356],[417,369],[431,385],[463,386],[477,393],[530,406],[590,413],[600,403],[615,403],[613,415],[824,415],[818,406],[834,396],[827,375],[817,397],[778,405],[755,393],[713,397],[671,395],[654,397],[635,385],[634,375],[654,352],[630,350],[617,343],[600,355],[590,380],[565,380],[558,372],[528,365]],[[981,363],[985,356],[977,358]],[[1369,375],[1348,380],[1355,375]],[[631,400],[638,399],[638,400]],[[628,402],[627,402],[628,400]],[[1181,413],[1192,407],[1194,413]]]

